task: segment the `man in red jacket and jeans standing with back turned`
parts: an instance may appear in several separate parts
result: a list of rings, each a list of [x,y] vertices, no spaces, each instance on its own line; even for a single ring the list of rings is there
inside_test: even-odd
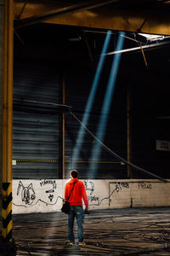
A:
[[[83,245],[83,208],[82,199],[85,203],[86,210],[88,211],[88,196],[86,194],[86,189],[84,183],[78,180],[77,170],[71,171],[71,179],[65,184],[65,201],[70,202],[71,211],[68,214],[68,236],[70,239],[70,244],[75,244],[75,236],[73,232],[74,219],[77,218],[77,228],[78,228],[78,244]],[[73,187],[74,186],[74,187]],[[72,192],[71,192],[72,190]],[[70,198],[69,198],[69,195]],[[69,198],[69,200],[68,200]]]

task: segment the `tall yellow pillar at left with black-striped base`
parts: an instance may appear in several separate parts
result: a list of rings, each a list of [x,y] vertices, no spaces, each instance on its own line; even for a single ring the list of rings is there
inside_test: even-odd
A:
[[[12,241],[12,124],[13,124],[13,49],[14,0],[3,1],[3,157],[2,195],[3,230]]]

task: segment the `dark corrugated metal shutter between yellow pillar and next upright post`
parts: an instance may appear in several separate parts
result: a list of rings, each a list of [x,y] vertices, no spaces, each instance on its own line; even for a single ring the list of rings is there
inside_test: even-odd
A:
[[[14,65],[14,178],[59,175],[59,77],[45,63]]]

